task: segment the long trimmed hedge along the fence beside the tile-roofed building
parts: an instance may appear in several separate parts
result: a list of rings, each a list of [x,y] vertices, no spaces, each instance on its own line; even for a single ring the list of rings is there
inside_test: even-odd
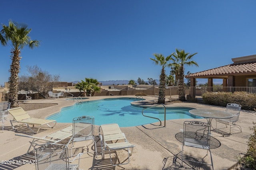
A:
[[[202,94],[204,104],[226,107],[228,103],[236,103],[242,109],[252,110],[256,108],[256,94],[248,92],[206,92]]]

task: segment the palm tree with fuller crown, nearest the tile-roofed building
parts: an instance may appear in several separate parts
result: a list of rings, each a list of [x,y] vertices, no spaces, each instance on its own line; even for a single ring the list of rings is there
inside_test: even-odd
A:
[[[194,55],[197,53],[194,53],[190,55],[189,53],[185,53],[184,50],[179,51],[176,49],[176,53],[173,55],[173,58],[171,60],[173,61],[172,65],[179,69],[179,76],[178,76],[178,95],[179,100],[185,101],[185,88],[184,88],[184,66],[193,66],[198,64],[195,61],[190,61]]]

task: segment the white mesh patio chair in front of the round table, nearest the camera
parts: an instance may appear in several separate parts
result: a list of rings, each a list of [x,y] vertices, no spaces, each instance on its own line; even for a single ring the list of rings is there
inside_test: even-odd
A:
[[[212,170],[213,162],[212,162],[212,153],[210,151],[210,132],[211,125],[209,123],[204,123],[200,121],[185,121],[184,122],[184,131],[183,131],[183,142],[182,142],[182,163],[183,160],[188,160],[190,162],[197,162],[200,164],[211,165]],[[210,152],[211,164],[203,162],[204,158],[202,158],[202,162],[185,159],[184,158],[184,146],[186,147],[194,147],[198,149],[206,149],[208,155],[208,151]]]

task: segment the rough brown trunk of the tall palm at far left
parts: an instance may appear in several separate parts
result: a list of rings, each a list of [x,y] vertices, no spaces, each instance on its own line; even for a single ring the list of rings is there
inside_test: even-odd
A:
[[[9,82],[9,102],[11,103],[11,106],[17,107],[18,106],[18,85],[19,85],[19,77],[18,74],[20,72],[20,50],[14,50],[11,51],[12,55],[12,64],[10,66],[9,72],[11,73]]]

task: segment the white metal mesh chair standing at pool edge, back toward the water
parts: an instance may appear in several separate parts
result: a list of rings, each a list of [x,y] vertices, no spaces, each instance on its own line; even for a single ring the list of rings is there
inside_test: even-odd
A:
[[[75,117],[73,119],[73,138],[72,138],[72,145],[71,145],[71,155],[73,154],[72,148],[74,146],[74,142],[88,141],[88,140],[91,140],[94,143],[95,150],[93,152],[96,152],[96,157],[97,157],[98,156],[97,147],[94,139],[94,117],[93,116]],[[90,153],[90,152],[87,152],[87,153]]]

